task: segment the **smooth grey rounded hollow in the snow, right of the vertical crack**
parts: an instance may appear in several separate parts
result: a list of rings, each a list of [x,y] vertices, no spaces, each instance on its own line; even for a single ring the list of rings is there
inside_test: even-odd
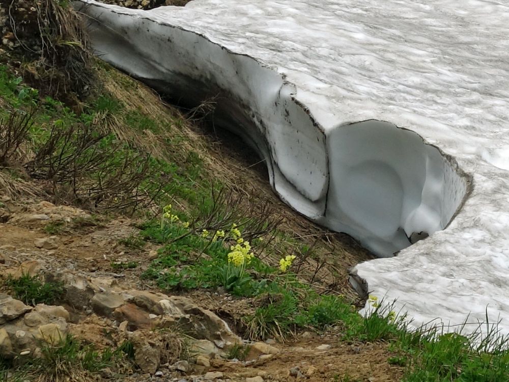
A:
[[[415,132],[378,120],[327,134],[329,189],[323,224],[381,257],[444,229],[467,183],[457,163]]]

